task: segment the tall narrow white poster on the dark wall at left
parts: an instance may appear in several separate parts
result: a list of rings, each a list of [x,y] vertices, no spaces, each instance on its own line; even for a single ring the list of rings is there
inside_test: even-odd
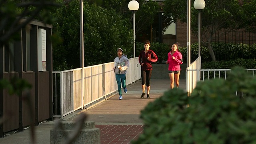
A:
[[[46,71],[46,30],[38,29],[38,71]]]

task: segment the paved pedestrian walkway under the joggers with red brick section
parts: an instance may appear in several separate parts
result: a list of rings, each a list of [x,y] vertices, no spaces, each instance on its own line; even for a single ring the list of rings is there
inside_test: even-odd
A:
[[[77,110],[74,114],[65,116],[66,121],[73,121],[81,113],[87,114],[88,121],[94,121],[96,128],[100,128],[101,144],[130,144],[138,138],[143,131],[143,121],[140,119],[140,111],[156,98],[170,89],[169,80],[150,81],[150,99],[142,94],[141,82],[127,86],[128,92],[122,92],[123,100],[118,100],[118,92],[104,100],[88,107],[86,110]],[[185,90],[186,82],[180,79],[180,88]],[[35,126],[36,144],[50,144],[50,130],[54,128],[54,121],[47,121]],[[23,132],[0,138],[0,144],[30,144],[30,128]]]

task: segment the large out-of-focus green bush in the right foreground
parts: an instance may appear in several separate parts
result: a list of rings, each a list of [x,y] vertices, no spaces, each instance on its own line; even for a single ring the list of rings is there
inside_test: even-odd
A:
[[[236,67],[226,80],[198,82],[191,96],[169,90],[142,110],[144,131],[132,143],[256,143],[255,87],[256,78]]]

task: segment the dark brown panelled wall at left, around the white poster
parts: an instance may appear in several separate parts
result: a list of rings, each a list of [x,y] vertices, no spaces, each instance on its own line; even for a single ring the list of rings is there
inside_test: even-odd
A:
[[[38,29],[46,30],[46,70],[38,68]],[[19,130],[30,124],[52,119],[52,25],[31,21],[20,30],[20,40],[0,48],[0,79],[25,80],[32,88],[19,95],[0,89],[0,137],[4,133]],[[41,52],[41,51],[40,51]],[[18,90],[18,89],[15,89]]]

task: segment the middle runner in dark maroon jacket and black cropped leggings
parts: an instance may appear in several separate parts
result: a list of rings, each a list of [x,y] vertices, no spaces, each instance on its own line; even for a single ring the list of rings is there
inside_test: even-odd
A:
[[[140,52],[139,55],[139,63],[141,65],[141,84],[142,84],[142,95],[140,98],[144,98],[145,95],[145,89],[147,86],[147,98],[150,98],[149,96],[149,90],[150,90],[150,78],[152,74],[152,64],[151,62],[157,61],[157,56],[153,52],[153,50],[149,49],[150,42],[149,40],[146,40],[144,42],[144,50]]]

